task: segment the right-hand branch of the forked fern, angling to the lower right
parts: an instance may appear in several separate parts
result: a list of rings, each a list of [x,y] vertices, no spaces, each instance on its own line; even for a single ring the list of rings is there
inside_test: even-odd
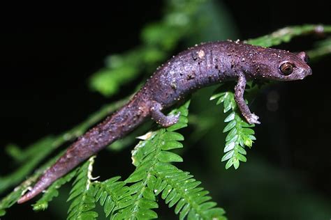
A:
[[[215,207],[216,203],[210,201],[212,197],[207,196],[208,191],[198,187],[201,182],[193,179],[193,175],[184,172],[171,164],[156,164],[156,181],[152,185],[156,195],[169,207],[175,206],[175,213],[179,219],[226,219],[224,210]]]

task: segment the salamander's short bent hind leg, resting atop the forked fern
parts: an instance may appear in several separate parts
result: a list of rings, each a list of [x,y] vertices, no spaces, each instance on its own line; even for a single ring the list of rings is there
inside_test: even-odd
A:
[[[161,112],[161,109],[161,104],[159,104],[158,102],[154,102],[150,109],[152,119],[155,120],[156,123],[160,124],[162,127],[170,127],[171,125],[177,123],[180,113],[177,113],[176,115],[172,116],[165,116]]]

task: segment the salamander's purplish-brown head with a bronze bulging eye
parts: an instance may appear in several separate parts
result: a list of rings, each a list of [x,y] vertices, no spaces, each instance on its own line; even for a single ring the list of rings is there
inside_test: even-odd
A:
[[[254,78],[292,81],[311,75],[308,56],[305,52],[297,54],[279,49],[260,51],[258,61],[249,70]]]

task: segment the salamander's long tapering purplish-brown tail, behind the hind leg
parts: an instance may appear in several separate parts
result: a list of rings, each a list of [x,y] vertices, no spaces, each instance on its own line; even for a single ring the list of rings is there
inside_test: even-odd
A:
[[[131,102],[139,102],[139,100],[132,100]],[[89,132],[80,136],[78,141],[73,143],[64,155],[43,173],[31,191],[22,196],[17,203],[25,203],[34,198],[55,180],[66,175],[81,162],[84,162],[85,159],[95,155],[105,146],[120,139],[140,125],[149,112],[147,111],[145,114],[140,113],[139,108],[142,102],[132,104],[131,102],[112,116],[106,118],[103,123],[96,125]]]

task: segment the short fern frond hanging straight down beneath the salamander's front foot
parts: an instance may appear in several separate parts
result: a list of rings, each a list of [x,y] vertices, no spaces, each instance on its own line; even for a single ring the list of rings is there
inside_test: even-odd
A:
[[[223,129],[223,133],[228,132],[226,136],[226,146],[224,147],[224,152],[221,161],[226,163],[226,169],[233,166],[235,169],[239,168],[240,162],[247,162],[247,155],[245,146],[251,148],[253,141],[256,137],[253,136],[254,130],[251,127],[255,125],[249,125],[246,121],[242,120],[241,113],[237,110],[237,104],[235,102],[235,95],[233,92],[226,91],[221,93],[216,93],[210,99],[214,100],[219,98],[216,104],[223,103],[224,113],[230,111],[230,114],[224,120],[228,123]]]

